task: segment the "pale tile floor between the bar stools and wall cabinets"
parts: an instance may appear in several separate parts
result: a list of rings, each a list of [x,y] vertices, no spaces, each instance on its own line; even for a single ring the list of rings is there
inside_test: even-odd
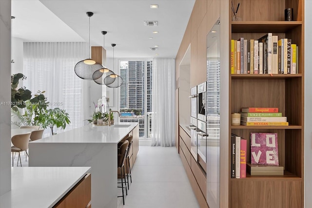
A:
[[[118,208],[199,208],[175,147],[140,146],[125,205],[121,197],[118,203]]]

